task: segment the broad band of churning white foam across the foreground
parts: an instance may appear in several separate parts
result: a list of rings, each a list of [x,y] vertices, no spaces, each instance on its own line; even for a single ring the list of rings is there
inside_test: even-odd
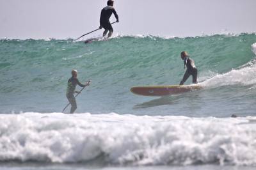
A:
[[[256,165],[256,121],[111,114],[1,114],[0,160]]]

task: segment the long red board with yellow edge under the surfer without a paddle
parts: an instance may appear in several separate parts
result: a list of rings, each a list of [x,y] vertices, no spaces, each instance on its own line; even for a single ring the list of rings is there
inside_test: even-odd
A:
[[[202,89],[202,86],[198,85],[170,85],[170,86],[136,86],[131,88],[131,92],[136,95],[150,96],[150,97],[162,97],[166,95],[174,95]]]

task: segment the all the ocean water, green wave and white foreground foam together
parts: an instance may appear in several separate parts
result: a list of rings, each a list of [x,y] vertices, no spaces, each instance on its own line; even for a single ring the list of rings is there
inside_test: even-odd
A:
[[[131,93],[179,84],[183,50],[203,89]],[[0,169],[255,169],[255,56],[255,33],[0,40]],[[72,69],[92,84],[66,114]]]

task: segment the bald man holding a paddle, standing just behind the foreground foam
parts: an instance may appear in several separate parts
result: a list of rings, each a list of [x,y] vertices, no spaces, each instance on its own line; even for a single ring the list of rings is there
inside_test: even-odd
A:
[[[86,82],[85,84],[81,84],[81,82],[77,79],[77,70],[71,71],[72,77],[68,79],[68,88],[66,96],[68,98],[68,102],[71,104],[70,113],[74,113],[76,111],[76,98],[74,97],[74,93],[80,93],[80,91],[76,91],[76,85],[78,84],[80,87],[85,87],[90,84],[90,82]]]

